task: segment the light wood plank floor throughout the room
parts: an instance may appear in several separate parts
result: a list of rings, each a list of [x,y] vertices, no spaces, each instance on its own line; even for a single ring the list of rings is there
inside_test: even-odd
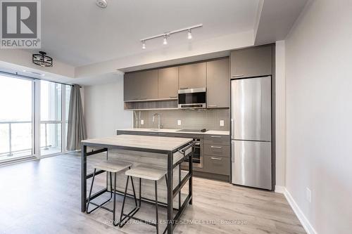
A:
[[[88,165],[103,157],[89,157]],[[104,186],[105,176],[99,176],[96,190]],[[118,212],[121,200],[118,196]],[[126,209],[132,207],[132,200],[127,203]],[[165,212],[159,209],[159,219]],[[155,209],[142,203],[137,214],[153,219]],[[0,233],[155,233],[144,223],[120,229],[111,219],[103,209],[80,212],[77,153],[0,167]],[[194,203],[182,222],[175,233],[305,233],[283,195],[203,178],[194,178]]]

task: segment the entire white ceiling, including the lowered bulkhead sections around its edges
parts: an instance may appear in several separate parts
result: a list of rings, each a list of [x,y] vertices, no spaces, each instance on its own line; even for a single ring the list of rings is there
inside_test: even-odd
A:
[[[32,65],[34,50],[2,50],[0,70],[29,70],[58,82],[99,84],[121,72],[228,56],[230,51],[284,39],[309,0],[42,1],[42,51],[54,67]],[[187,33],[139,41],[203,24]],[[35,50],[37,52],[37,50]]]

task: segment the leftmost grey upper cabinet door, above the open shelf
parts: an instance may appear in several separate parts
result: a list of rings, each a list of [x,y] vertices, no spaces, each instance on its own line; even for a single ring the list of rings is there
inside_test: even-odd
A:
[[[124,100],[148,100],[157,98],[158,70],[125,74]]]

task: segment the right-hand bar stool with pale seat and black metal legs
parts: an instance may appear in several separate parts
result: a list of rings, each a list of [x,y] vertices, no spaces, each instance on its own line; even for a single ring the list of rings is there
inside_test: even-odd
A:
[[[125,172],[125,175],[127,176],[127,181],[126,181],[126,187],[125,187],[125,194],[123,197],[123,202],[122,202],[122,209],[121,209],[121,214],[120,214],[120,228],[125,226],[125,223],[129,221],[130,219],[135,219],[138,221],[141,221],[143,223],[149,224],[151,226],[156,227],[156,233],[159,232],[159,219],[158,219],[158,180],[163,178],[165,176],[166,179],[166,186],[168,186],[168,179],[167,179],[167,171],[165,169],[161,168],[155,168],[155,167],[148,167],[144,165],[140,165],[137,167],[134,167],[132,169],[129,169]],[[130,212],[129,214],[125,214],[123,212],[123,209],[125,207],[125,200],[126,200],[126,194],[127,194],[127,187],[128,187],[128,180],[131,177],[137,177],[139,178],[139,206],[137,206]],[[142,178],[149,180],[149,181],[154,181],[154,187],[155,187],[155,208],[156,208],[156,223],[152,223],[151,221],[139,219],[137,217],[134,217],[134,214],[136,214],[139,211],[139,207],[141,207],[141,201],[142,201]],[[134,211],[134,212],[133,212]],[[127,219],[126,219],[127,218]],[[124,221],[126,219],[126,221]],[[122,223],[123,222],[123,223]]]

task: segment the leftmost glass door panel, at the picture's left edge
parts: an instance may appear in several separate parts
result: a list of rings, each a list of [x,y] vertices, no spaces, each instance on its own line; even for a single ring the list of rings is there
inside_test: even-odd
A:
[[[34,82],[0,74],[0,162],[34,154]]]

